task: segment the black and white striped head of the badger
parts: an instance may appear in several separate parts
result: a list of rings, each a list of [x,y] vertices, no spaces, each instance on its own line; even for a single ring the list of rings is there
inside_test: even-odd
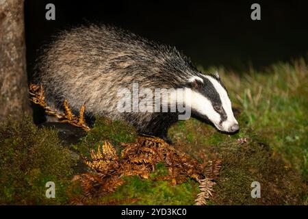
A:
[[[227,90],[217,75],[200,75],[189,79],[192,112],[206,118],[220,131],[238,131]]]

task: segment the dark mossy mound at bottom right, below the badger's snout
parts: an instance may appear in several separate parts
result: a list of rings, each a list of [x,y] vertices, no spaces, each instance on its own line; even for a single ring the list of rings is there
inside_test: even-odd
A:
[[[232,149],[230,150],[230,146]],[[214,190],[217,204],[283,205],[301,204],[305,185],[300,175],[287,168],[279,155],[256,139],[244,144],[220,144],[223,166]],[[261,184],[261,198],[251,197],[251,183]]]

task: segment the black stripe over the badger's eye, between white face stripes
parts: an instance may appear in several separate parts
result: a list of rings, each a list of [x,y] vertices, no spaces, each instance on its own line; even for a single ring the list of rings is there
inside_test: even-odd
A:
[[[216,77],[213,77],[216,79]],[[190,83],[190,88],[196,92],[201,93],[203,96],[207,97],[209,101],[211,101],[211,105],[213,105],[214,110],[220,114],[220,125],[227,120],[227,113],[224,111],[222,107],[222,101],[217,90],[214,88],[214,85],[207,79],[206,77],[202,77],[203,82],[195,80]],[[217,79],[216,79],[217,80]],[[221,82],[218,81],[220,84]],[[224,88],[224,86],[222,86]]]

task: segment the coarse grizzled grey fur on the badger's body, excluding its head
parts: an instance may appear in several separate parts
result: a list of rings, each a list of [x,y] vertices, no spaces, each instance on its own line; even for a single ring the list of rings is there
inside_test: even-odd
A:
[[[118,89],[133,82],[140,88],[178,88],[198,71],[174,48],[116,27],[90,25],[62,31],[42,51],[36,74],[48,104],[60,107],[67,99],[78,110],[85,103],[90,114],[127,120],[146,133],[162,115],[119,114]]]

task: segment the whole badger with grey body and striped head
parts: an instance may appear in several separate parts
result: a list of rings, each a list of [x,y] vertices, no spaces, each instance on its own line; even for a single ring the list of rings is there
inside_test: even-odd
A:
[[[139,89],[189,91],[182,101],[191,109],[192,117],[222,132],[239,129],[218,73],[201,73],[174,47],[118,27],[81,25],[61,31],[41,50],[35,75],[36,83],[44,88],[47,105],[61,110],[65,99],[74,111],[86,105],[89,118],[124,120],[138,133],[168,139],[168,128],[177,122],[180,112],[119,112],[119,90],[131,89],[133,83]],[[177,101],[175,96],[169,96],[162,105],[170,108]],[[155,96],[152,98],[155,101]]]

